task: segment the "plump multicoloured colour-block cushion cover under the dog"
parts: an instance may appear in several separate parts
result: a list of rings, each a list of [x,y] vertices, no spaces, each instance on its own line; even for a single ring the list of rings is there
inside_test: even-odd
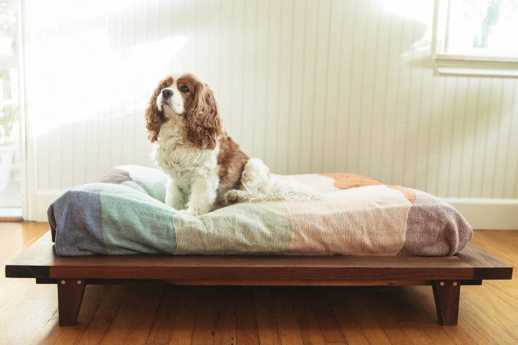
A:
[[[60,256],[448,256],[472,236],[453,206],[420,190],[356,174],[283,177],[311,186],[322,198],[241,203],[190,216],[164,204],[160,170],[120,166],[50,205],[55,249]]]

